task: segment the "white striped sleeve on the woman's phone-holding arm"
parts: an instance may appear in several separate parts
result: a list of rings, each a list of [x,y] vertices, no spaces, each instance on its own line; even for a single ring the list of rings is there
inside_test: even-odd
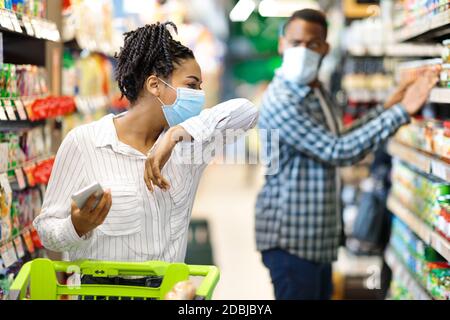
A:
[[[71,219],[71,195],[83,186],[83,167],[75,131],[71,131],[58,150],[41,213],[33,223],[50,250],[71,251],[86,245],[91,237],[79,237]]]

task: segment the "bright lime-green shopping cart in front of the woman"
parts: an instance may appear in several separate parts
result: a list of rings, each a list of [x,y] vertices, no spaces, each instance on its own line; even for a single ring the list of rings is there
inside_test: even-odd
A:
[[[122,285],[60,284],[57,273],[90,275],[93,277],[159,276],[159,288]],[[60,300],[72,299],[140,299],[163,300],[165,295],[180,281],[190,277],[203,277],[196,290],[196,300],[210,300],[219,281],[219,269],[214,266],[195,266],[161,261],[62,262],[36,259],[26,263],[10,288],[12,300]]]

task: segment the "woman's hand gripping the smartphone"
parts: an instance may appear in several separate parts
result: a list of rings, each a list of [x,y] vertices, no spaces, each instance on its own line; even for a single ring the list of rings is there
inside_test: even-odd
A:
[[[82,237],[101,225],[111,209],[111,190],[106,190],[97,206],[97,196],[91,195],[82,209],[72,201],[72,223],[77,234]]]

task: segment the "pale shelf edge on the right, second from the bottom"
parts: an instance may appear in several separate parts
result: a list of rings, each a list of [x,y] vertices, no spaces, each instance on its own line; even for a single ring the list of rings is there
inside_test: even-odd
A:
[[[450,261],[450,242],[435,232],[414,213],[405,208],[400,201],[390,196],[387,201],[388,209],[399,217],[426,244],[433,247],[442,257]]]

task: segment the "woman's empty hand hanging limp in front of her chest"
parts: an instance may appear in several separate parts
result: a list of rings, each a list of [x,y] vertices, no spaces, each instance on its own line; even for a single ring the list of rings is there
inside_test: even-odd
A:
[[[144,180],[148,190],[153,192],[154,186],[158,186],[164,191],[170,188],[170,184],[162,176],[161,170],[169,160],[177,143],[191,139],[192,137],[181,126],[172,127],[167,131],[145,162]]]

